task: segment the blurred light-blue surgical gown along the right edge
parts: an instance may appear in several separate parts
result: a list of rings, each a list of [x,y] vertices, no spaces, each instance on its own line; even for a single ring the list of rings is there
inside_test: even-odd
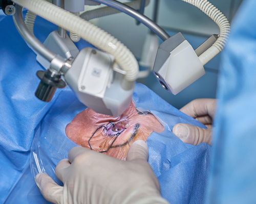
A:
[[[256,202],[255,7],[242,2],[222,55],[208,203]]]

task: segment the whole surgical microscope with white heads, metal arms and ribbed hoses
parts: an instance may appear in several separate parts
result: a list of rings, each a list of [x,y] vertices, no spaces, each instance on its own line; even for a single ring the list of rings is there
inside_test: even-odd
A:
[[[227,18],[207,0],[181,1],[198,7],[214,20],[220,34],[212,35],[194,50],[181,33],[170,37],[143,14],[150,0],[0,0],[0,7],[5,14],[13,15],[20,35],[46,69],[36,73],[41,80],[35,91],[37,98],[49,102],[57,88],[70,86],[82,104],[97,113],[117,117],[131,103],[139,65],[124,44],[88,20],[123,12],[150,28],[164,41],[152,71],[160,85],[176,95],[205,74],[203,66],[222,51],[230,32]],[[100,4],[106,6],[80,14],[84,5]],[[23,8],[28,9],[25,20]],[[33,34],[36,15],[58,25],[43,44]],[[79,52],[74,42],[80,38],[96,48],[86,47]]]

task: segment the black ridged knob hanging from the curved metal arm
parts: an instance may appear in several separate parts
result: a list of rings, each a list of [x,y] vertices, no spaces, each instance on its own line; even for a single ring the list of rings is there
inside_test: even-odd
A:
[[[35,96],[46,102],[50,102],[57,88],[65,88],[66,84],[61,80],[60,75],[48,69],[46,71],[37,71],[37,77],[41,80],[37,87]]]

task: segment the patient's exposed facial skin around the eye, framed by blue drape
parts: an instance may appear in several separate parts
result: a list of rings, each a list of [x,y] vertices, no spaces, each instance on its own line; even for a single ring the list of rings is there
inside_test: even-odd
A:
[[[100,127],[101,125],[106,128]],[[153,132],[161,133],[163,130],[163,125],[154,115],[149,112],[138,113],[134,104],[131,103],[119,117],[99,114],[87,108],[77,114],[67,125],[66,135],[76,144],[90,148],[88,141],[96,131],[90,140],[91,147],[95,151],[107,150],[116,138],[111,148],[103,154],[125,160],[127,151],[133,142],[146,141]]]

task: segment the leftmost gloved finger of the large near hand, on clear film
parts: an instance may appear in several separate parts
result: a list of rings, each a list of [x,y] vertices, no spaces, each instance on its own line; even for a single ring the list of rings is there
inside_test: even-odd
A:
[[[49,202],[63,203],[63,187],[57,185],[46,173],[38,173],[35,182],[42,195]]]

